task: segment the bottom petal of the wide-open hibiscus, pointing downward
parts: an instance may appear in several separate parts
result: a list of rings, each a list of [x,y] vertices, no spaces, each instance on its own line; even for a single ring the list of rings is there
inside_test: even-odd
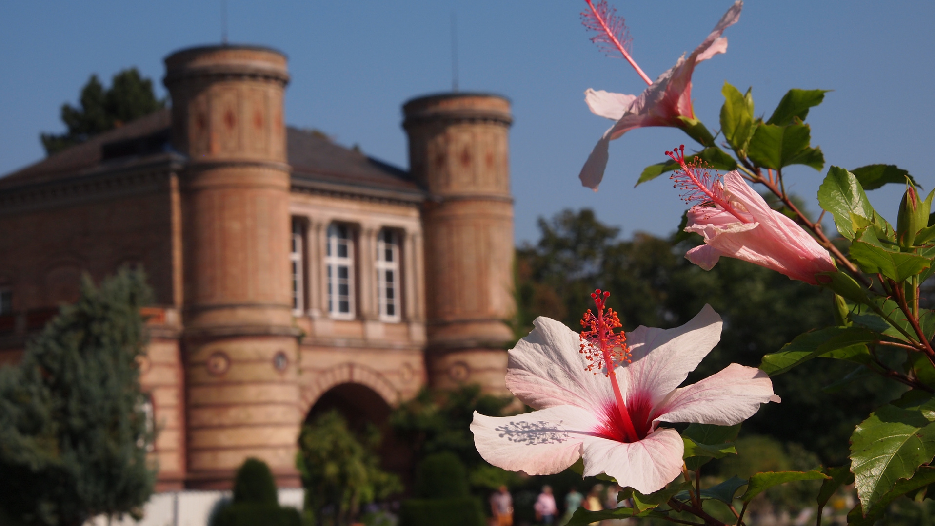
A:
[[[674,429],[660,429],[626,444],[599,436],[584,439],[584,476],[606,473],[643,494],[662,490],[682,473],[684,443]]]

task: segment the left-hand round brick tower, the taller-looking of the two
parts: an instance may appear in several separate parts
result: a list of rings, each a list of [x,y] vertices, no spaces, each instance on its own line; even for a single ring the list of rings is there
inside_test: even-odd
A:
[[[248,457],[295,471],[297,341],[289,286],[286,57],[253,46],[165,59],[180,174],[187,486],[229,487]]]

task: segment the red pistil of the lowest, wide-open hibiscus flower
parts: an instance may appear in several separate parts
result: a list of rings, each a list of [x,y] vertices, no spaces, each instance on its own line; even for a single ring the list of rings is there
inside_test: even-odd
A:
[[[597,316],[591,309],[584,313],[582,319],[583,331],[581,332],[582,345],[580,352],[590,363],[587,366],[588,371],[593,371],[597,375],[600,369],[606,371],[605,376],[611,381],[613,388],[613,397],[617,402],[617,412],[620,416],[619,421],[614,421],[621,431],[623,431],[623,442],[636,442],[640,440],[640,435],[633,427],[633,420],[626,410],[624,395],[620,392],[620,386],[617,384],[617,374],[614,368],[620,363],[630,363],[630,349],[626,347],[626,334],[623,331],[615,333],[615,329],[621,328],[620,318],[613,309],[607,308],[607,298],[611,292],[601,292],[600,289],[594,291],[591,297],[597,306]],[[614,418],[613,420],[617,420]],[[645,436],[645,434],[643,434]]]

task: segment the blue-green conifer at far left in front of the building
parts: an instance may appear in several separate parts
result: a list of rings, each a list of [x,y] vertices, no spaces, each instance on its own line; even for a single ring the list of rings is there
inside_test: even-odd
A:
[[[139,388],[139,309],[151,291],[122,269],[96,288],[83,277],[22,363],[0,369],[0,507],[28,524],[78,526],[98,514],[138,515],[155,472]]]

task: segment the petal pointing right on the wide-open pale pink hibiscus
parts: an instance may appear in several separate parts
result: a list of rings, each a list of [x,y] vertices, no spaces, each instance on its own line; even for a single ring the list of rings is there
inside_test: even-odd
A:
[[[778,398],[766,373],[731,363],[716,375],[675,390],[655,421],[734,425],[754,416],[760,404]]]

